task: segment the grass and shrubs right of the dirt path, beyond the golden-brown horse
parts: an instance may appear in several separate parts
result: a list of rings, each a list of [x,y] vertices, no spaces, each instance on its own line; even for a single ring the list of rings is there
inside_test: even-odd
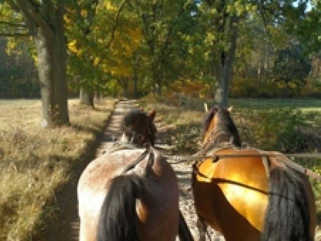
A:
[[[145,108],[156,109],[156,121],[167,125],[168,144],[173,152],[193,154],[202,143],[202,126],[212,100],[146,97]],[[232,118],[244,146],[283,153],[321,152],[321,100],[317,99],[230,99]],[[159,127],[159,126],[158,126]],[[161,130],[165,127],[161,126]],[[166,129],[166,128],[165,128]],[[161,135],[161,134],[158,134]],[[294,160],[321,174],[321,159]],[[321,183],[311,180],[321,223]]]

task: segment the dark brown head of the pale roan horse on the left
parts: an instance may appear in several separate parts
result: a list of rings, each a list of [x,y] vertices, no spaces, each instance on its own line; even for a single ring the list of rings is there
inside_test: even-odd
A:
[[[127,141],[140,147],[154,146],[155,134],[154,125],[155,110],[148,113],[140,109],[128,111],[121,124],[121,130]]]

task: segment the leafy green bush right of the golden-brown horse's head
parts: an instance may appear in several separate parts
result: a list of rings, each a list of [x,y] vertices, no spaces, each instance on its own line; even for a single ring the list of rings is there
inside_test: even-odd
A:
[[[269,110],[241,110],[241,137],[254,147],[280,152],[308,152],[320,150],[320,139],[306,131],[308,121],[316,115],[298,108]]]

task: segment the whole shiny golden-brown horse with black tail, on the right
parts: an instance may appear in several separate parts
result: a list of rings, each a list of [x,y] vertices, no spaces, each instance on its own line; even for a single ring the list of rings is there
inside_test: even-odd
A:
[[[227,109],[209,112],[199,154],[216,156],[194,164],[200,240],[207,225],[227,241],[313,240],[315,202],[307,176],[280,153],[241,148]]]

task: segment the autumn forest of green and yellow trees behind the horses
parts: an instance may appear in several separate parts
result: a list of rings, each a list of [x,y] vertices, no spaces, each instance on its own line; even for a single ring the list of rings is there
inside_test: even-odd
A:
[[[54,10],[61,15],[46,17]],[[149,93],[321,96],[317,0],[0,1],[0,17],[0,98],[40,97],[48,80],[38,77],[45,74],[35,43],[53,26],[64,36],[56,42],[65,41],[49,46],[54,61],[62,56],[62,71],[54,70],[62,76],[53,79],[64,86],[66,71],[69,96],[80,91],[85,103]]]

